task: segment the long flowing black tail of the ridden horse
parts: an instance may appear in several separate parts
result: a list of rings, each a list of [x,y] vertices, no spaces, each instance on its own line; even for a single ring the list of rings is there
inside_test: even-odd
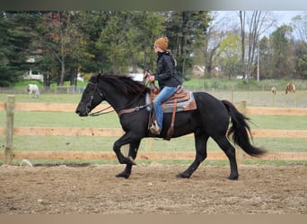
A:
[[[227,100],[222,100],[222,102],[227,108],[232,122],[232,126],[228,130],[227,137],[232,136],[233,142],[239,145],[241,149],[250,156],[257,157],[264,154],[266,151],[257,148],[250,143],[250,138],[252,138],[252,135],[250,132],[250,125],[247,123],[250,118],[241,114],[231,102]]]

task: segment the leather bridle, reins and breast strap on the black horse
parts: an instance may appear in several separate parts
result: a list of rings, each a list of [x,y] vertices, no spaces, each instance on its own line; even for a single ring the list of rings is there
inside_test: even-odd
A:
[[[125,107],[122,107],[122,108],[118,108],[118,109],[113,108],[112,110],[106,111],[106,110],[112,108],[112,106],[109,106],[109,107],[101,109],[99,111],[89,113],[90,111],[89,111],[88,108],[91,108],[91,106],[92,106],[92,100],[94,98],[95,91],[98,90],[98,92],[101,96],[101,99],[103,99],[103,94],[101,93],[101,90],[99,90],[99,88],[97,88],[97,86],[98,86],[97,83],[93,83],[93,82],[88,82],[88,83],[92,84],[94,86],[94,90],[92,91],[92,96],[91,96],[90,102],[88,104],[86,104],[86,112],[87,112],[88,116],[100,116],[100,115],[104,115],[104,114],[109,114],[109,113],[114,112],[114,111],[118,111],[118,116],[121,116],[122,114],[127,114],[127,113],[132,113],[132,112],[135,112],[135,111],[139,111],[140,109],[146,108],[147,106],[152,104],[152,103],[149,103],[149,104],[137,106],[136,108],[127,108],[129,105],[133,104],[136,101],[136,99],[137,99],[136,98],[136,99],[132,100],[131,102],[129,102]]]

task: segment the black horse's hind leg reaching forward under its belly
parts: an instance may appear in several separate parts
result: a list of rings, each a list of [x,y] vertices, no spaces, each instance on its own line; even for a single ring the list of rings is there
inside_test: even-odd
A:
[[[194,134],[195,135],[195,147],[196,158],[193,163],[183,173],[178,174],[176,177],[189,178],[197,170],[202,161],[206,159],[206,142],[209,138],[206,134]]]

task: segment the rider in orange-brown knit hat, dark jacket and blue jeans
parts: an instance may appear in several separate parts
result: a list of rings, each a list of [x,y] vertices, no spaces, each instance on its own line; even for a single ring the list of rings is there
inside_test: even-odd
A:
[[[171,98],[182,84],[181,77],[176,73],[176,61],[167,50],[169,39],[163,37],[154,42],[154,51],[157,53],[157,73],[145,73],[150,82],[158,81],[160,93],[153,99],[153,110],[156,123],[150,127],[153,134],[159,135],[162,130],[163,111],[162,102]]]

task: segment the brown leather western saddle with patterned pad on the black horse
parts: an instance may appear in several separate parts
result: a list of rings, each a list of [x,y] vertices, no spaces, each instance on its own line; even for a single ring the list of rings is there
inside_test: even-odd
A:
[[[159,94],[159,90],[152,83],[151,93],[146,97],[146,103],[152,102],[153,99]],[[155,124],[155,118],[153,115],[153,109],[148,107],[149,111],[151,111],[150,122],[148,123],[148,128]],[[193,92],[189,90],[184,90],[182,86],[176,90],[176,92],[171,96],[170,99],[167,99],[162,103],[163,113],[172,113],[171,116],[171,126],[167,132],[165,140],[171,140],[171,136],[173,134],[173,128],[175,123],[175,116],[177,112],[181,111],[189,111],[197,109],[197,104],[194,99]]]

